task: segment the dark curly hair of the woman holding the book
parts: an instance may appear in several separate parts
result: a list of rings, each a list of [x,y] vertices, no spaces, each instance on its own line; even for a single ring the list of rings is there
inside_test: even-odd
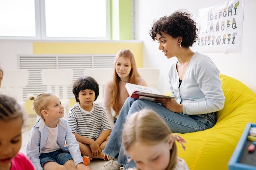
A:
[[[156,34],[167,33],[172,37],[182,37],[182,47],[191,47],[197,39],[197,28],[191,14],[176,11],[170,16],[161,17],[150,29],[150,36],[156,40]]]

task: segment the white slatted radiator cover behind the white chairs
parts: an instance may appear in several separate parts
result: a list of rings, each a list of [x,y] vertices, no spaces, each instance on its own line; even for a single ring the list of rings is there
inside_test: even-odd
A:
[[[71,68],[74,74],[72,84],[68,86],[68,98],[74,98],[73,83],[78,77],[84,75],[84,70],[86,68],[113,68],[115,56],[116,54],[18,55],[19,68],[29,71],[28,85],[23,88],[23,98],[28,99],[28,94],[38,95],[47,91],[41,80],[41,70],[44,68]],[[65,78],[65,75],[56,78]],[[60,98],[62,98],[62,89],[60,89]]]

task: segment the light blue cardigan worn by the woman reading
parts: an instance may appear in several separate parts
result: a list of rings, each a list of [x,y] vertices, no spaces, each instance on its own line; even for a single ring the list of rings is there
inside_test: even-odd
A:
[[[179,87],[176,63],[169,71],[170,91],[176,101],[182,102],[183,113],[198,115],[219,111],[225,97],[221,88],[220,71],[206,55],[194,53]]]

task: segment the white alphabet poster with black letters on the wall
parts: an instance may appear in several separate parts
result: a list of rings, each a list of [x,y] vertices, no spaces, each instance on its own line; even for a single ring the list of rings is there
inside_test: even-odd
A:
[[[244,0],[228,0],[224,4],[197,11],[198,39],[194,47],[200,52],[241,53]]]

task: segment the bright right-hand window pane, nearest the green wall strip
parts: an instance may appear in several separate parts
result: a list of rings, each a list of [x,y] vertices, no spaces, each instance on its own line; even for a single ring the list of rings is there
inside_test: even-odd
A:
[[[106,0],[45,0],[46,37],[107,37]]]

